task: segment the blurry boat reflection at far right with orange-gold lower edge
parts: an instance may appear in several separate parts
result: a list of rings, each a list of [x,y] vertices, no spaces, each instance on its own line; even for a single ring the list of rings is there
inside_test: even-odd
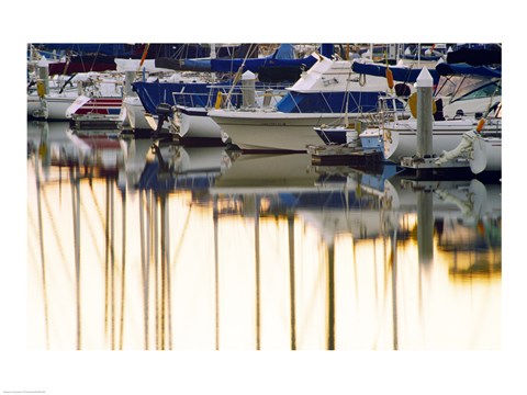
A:
[[[429,247],[431,238],[437,237],[438,250],[455,255],[449,260],[451,273],[470,275],[472,271],[467,268],[478,267],[481,274],[485,272],[482,259],[486,273],[500,273],[501,192],[501,184],[485,185],[476,179],[426,182],[395,177],[386,181],[382,204],[385,210],[399,213],[395,216],[399,218],[417,214],[417,238],[419,242],[429,238],[425,253],[428,258],[433,255]],[[463,252],[467,256],[461,257]]]

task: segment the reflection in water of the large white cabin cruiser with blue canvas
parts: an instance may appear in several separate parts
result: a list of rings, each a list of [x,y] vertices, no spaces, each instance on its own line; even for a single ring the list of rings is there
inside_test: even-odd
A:
[[[349,167],[340,171],[339,176],[321,172],[311,166],[306,154],[243,154],[210,191],[235,196],[242,206],[247,199],[266,199],[270,202],[267,213],[294,212],[332,242],[343,233],[354,239],[378,237],[385,230],[379,215],[382,189],[378,188],[382,188],[380,180],[386,174]]]

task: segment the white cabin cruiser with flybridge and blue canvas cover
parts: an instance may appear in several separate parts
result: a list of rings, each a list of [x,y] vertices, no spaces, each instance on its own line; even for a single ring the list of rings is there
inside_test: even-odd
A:
[[[307,145],[324,144],[314,127],[341,125],[346,114],[351,119],[377,111],[379,95],[388,89],[384,77],[365,82],[351,61],[313,56],[315,65],[276,108],[211,110],[209,116],[244,150],[305,151]]]

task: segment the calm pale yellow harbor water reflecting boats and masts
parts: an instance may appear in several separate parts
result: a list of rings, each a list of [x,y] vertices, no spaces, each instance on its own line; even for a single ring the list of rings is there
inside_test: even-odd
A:
[[[29,340],[501,349],[501,184],[27,123]]]

